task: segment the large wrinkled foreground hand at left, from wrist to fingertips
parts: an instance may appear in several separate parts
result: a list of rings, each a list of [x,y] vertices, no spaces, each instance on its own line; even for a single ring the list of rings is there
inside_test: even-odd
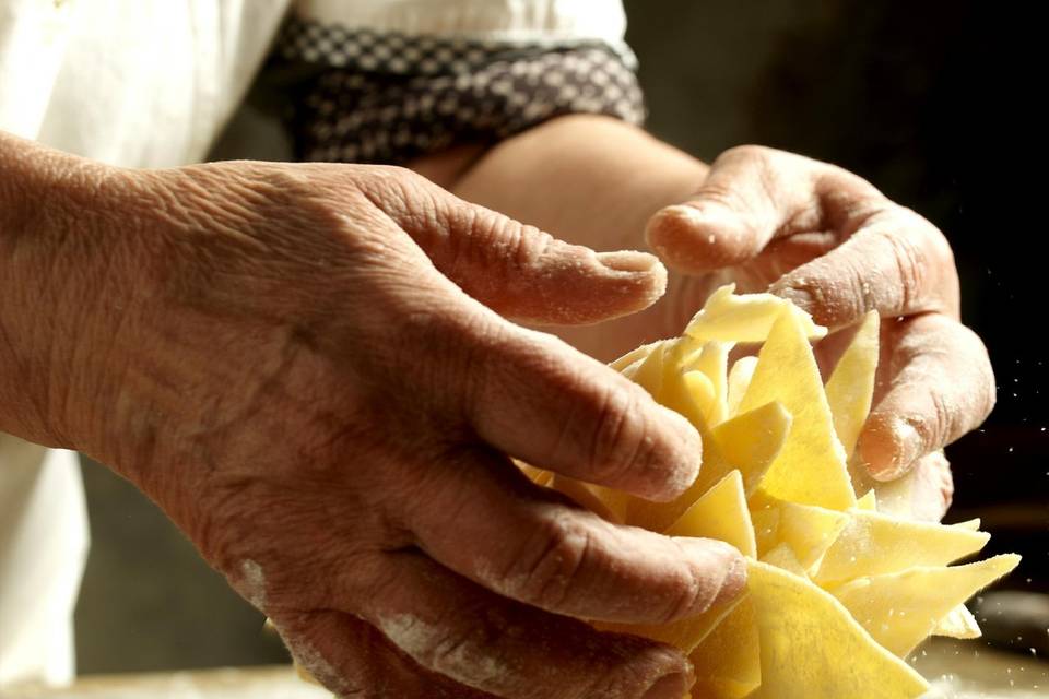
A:
[[[662,293],[653,258],[599,257],[397,168],[108,170],[91,191],[50,248],[30,242],[44,265],[83,258],[59,294],[76,332],[39,355],[69,377],[45,381],[48,441],[144,489],[327,687],[687,690],[676,650],[576,619],[700,613],[742,588],[739,553],[610,524],[509,457],[662,500],[695,477],[697,434],[491,310],[630,312]]]

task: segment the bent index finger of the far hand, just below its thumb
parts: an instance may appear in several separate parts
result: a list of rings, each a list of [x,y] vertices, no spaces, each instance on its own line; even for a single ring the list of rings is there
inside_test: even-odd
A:
[[[926,311],[958,317],[958,275],[951,246],[935,226],[903,206],[868,216],[840,246],[789,272],[770,291],[829,328]]]

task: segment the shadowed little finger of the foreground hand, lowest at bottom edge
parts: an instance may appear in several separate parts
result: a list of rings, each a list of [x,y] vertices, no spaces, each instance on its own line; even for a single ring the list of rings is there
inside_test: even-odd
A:
[[[295,661],[339,697],[494,699],[420,666],[367,621],[343,612],[286,613],[273,619]]]

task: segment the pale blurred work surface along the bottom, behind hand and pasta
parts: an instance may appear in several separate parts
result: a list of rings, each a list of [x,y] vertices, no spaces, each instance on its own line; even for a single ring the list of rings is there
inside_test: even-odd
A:
[[[1001,653],[980,641],[936,639],[916,653],[915,665],[933,684],[938,699],[1046,699],[1049,663]],[[290,666],[203,670],[178,673],[96,675],[64,689],[3,690],[3,699],[330,699]],[[849,698],[862,699],[862,697]]]

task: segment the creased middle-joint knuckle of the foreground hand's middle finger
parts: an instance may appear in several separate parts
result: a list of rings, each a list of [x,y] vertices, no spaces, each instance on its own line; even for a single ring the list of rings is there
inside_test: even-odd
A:
[[[524,602],[549,609],[562,607],[593,556],[592,532],[567,512],[552,514],[535,524],[528,548],[515,557],[504,580]]]

